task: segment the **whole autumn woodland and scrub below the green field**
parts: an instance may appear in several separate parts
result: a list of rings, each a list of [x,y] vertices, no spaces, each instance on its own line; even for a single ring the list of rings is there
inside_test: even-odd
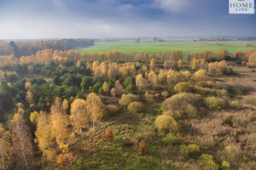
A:
[[[3,169],[256,167],[256,51],[185,59],[2,43]]]

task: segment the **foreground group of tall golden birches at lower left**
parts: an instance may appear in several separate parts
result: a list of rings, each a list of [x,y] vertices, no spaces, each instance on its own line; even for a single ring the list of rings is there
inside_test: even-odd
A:
[[[78,133],[84,139],[83,131],[102,118],[104,105],[102,100],[94,93],[88,94],[87,99],[75,99],[70,105],[67,99],[63,101],[57,97],[50,108],[50,112],[34,111],[30,120],[36,125],[34,141],[38,143],[39,150],[48,161],[61,162],[63,155],[68,152],[67,139]],[[69,114],[70,113],[70,114]],[[70,127],[72,125],[72,127]],[[5,129],[0,126],[0,166],[7,169],[10,163],[19,163],[28,169],[33,155],[32,133],[27,126],[25,107],[17,104],[15,116]],[[22,163],[23,162],[23,163]]]

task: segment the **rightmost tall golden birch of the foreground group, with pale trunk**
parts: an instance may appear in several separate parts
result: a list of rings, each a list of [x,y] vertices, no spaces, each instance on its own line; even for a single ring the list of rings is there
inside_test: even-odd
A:
[[[87,110],[90,113],[90,120],[93,123],[93,130],[95,130],[95,122],[102,118],[102,99],[99,98],[95,93],[90,93],[87,96]]]

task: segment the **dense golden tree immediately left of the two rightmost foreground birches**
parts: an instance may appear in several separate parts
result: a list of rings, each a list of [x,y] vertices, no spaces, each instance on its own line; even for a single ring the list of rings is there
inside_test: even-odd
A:
[[[63,150],[67,150],[65,144],[68,136],[69,119],[63,109],[61,98],[56,97],[54,104],[50,108],[50,125],[52,128],[52,135],[55,137],[57,144]]]

